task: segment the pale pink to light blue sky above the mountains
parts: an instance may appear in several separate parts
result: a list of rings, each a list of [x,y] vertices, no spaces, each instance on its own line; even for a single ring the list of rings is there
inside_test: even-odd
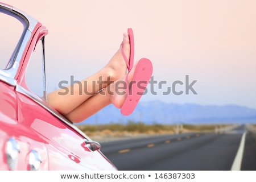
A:
[[[152,61],[156,94],[142,101],[241,105],[256,109],[256,1],[5,1],[49,30],[47,84],[89,77],[103,68],[133,28],[135,61]],[[185,94],[187,84],[195,80]],[[181,95],[166,93],[176,85]],[[163,82],[162,82],[163,83]],[[151,86],[148,87],[148,89]]]

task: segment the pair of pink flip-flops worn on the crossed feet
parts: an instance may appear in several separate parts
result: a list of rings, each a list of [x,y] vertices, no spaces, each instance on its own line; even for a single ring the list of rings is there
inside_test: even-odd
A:
[[[133,68],[133,62],[134,62],[134,36],[133,31],[131,28],[128,29],[129,39],[130,39],[130,60],[128,61],[125,53],[123,53],[122,49],[122,55],[126,61],[128,73],[126,75],[126,83],[128,83],[128,74]],[[123,102],[123,105],[121,107],[121,113],[123,115],[129,115],[133,113],[135,107],[137,106],[139,100],[141,99],[141,96],[144,93],[144,90],[147,87],[148,81],[150,80],[150,77],[152,75],[153,67],[150,60],[146,58],[142,58],[138,61],[134,75],[133,80],[130,82],[129,86],[127,85],[127,97],[125,99],[125,102]]]

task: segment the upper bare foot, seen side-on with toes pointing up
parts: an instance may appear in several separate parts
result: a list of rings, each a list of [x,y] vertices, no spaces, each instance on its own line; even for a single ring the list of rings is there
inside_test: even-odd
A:
[[[118,49],[109,63],[106,65],[104,72],[106,73],[106,77],[110,77],[112,81],[117,81],[122,79],[127,72],[126,61],[122,55],[123,52],[126,55],[127,60],[130,58],[130,40],[128,33],[123,34],[123,43],[122,46]]]

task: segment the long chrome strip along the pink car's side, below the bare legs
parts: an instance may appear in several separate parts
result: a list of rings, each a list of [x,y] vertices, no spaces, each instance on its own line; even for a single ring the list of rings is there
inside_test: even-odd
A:
[[[61,122],[65,123],[69,127],[71,127],[73,130],[75,130],[78,134],[81,135],[82,138],[86,140],[91,140],[85,133],[83,133],[80,129],[78,129],[71,121],[69,121],[67,118],[65,118],[63,115],[58,113],[56,110],[53,110],[50,106],[46,105],[46,101],[44,101],[42,98],[37,96],[36,94],[28,91],[27,89],[24,89],[19,84],[16,84],[16,92],[19,92],[23,94],[24,96],[30,98],[31,100],[35,101],[37,104],[42,106],[44,109],[46,109],[49,113],[51,113],[56,118],[60,119]]]

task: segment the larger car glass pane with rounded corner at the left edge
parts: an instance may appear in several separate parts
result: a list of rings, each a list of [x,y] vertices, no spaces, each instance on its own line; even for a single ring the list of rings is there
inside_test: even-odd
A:
[[[0,69],[5,69],[23,32],[23,24],[0,12]]]

